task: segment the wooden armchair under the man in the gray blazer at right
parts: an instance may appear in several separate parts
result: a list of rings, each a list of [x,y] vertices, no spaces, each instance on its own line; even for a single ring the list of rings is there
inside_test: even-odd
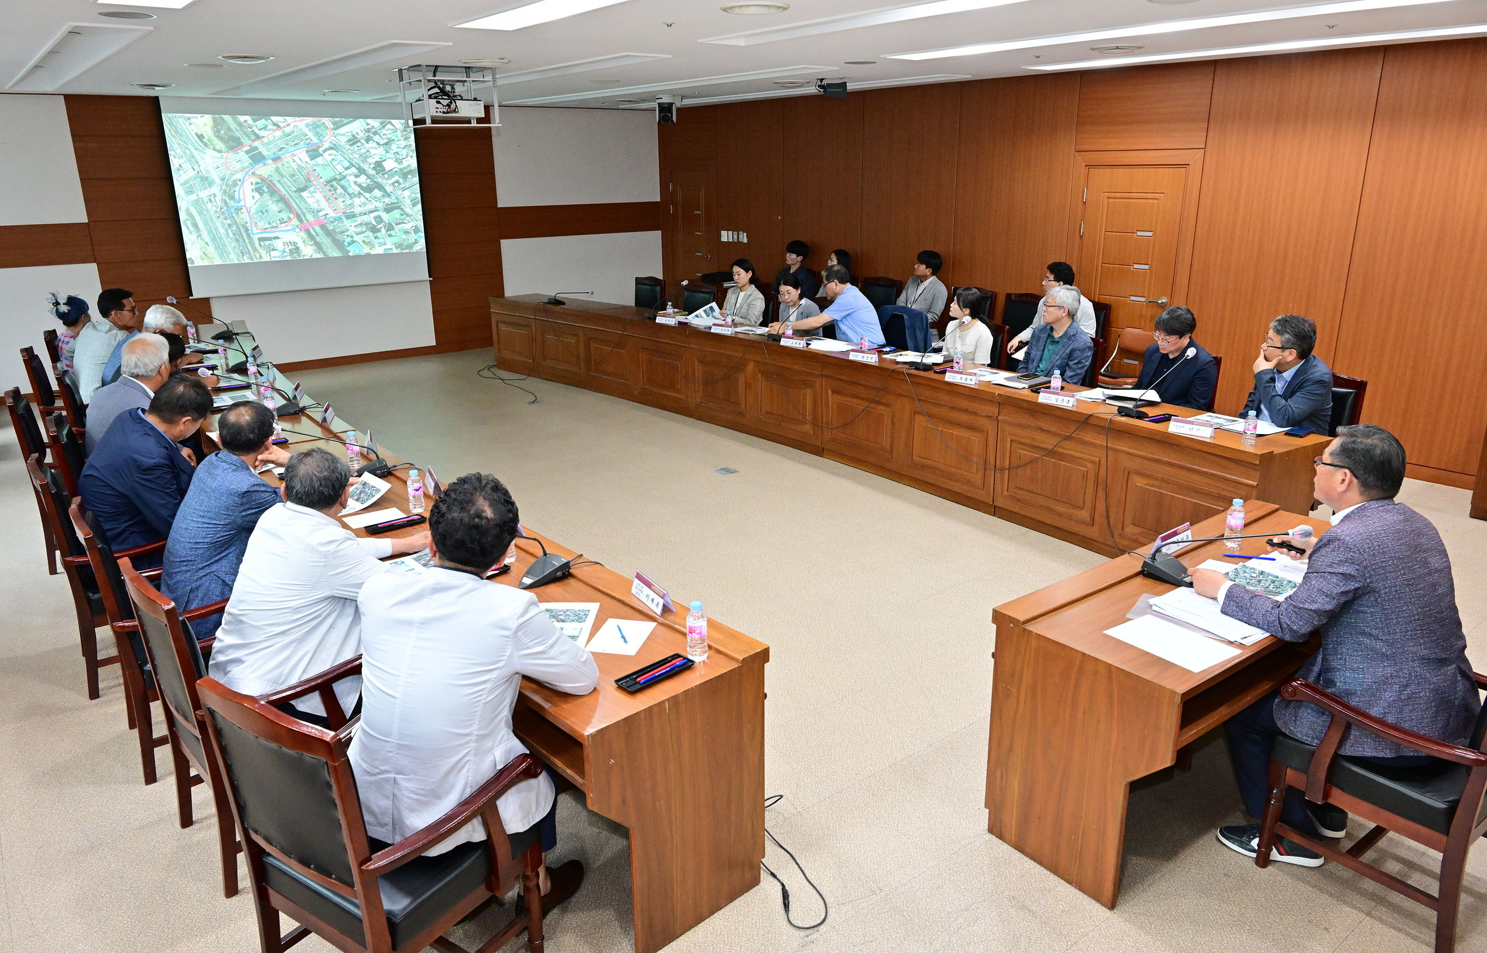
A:
[[[1474,673],[1474,678],[1478,688],[1487,688],[1487,675]],[[1487,833],[1487,804],[1483,801],[1483,794],[1487,791],[1487,754],[1484,754],[1487,745],[1483,743],[1487,709],[1477,717],[1472,746],[1465,748],[1389,724],[1300,678],[1282,685],[1280,697],[1310,702],[1328,712],[1332,720],[1322,736],[1322,743],[1316,746],[1285,736],[1276,739],[1270,761],[1270,800],[1259,828],[1259,852],[1255,864],[1267,867],[1276,837],[1289,837],[1323,858],[1433,910],[1436,953],[1454,950],[1466,855]],[[1349,730],[1367,731],[1414,752],[1435,755],[1444,764],[1392,769],[1338,755],[1337,748]],[[1280,807],[1288,786],[1304,791],[1306,798],[1315,804],[1337,804],[1350,815],[1373,822],[1374,828],[1347,850],[1307,837],[1280,824]],[[1364,855],[1389,831],[1442,855],[1438,894],[1428,894],[1364,862]]]

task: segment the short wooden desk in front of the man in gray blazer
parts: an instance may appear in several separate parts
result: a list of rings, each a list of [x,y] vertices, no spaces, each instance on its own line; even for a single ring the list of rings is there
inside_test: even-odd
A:
[[[1246,532],[1329,528],[1270,503],[1246,503],[1245,513]],[[1222,532],[1222,517],[1193,528],[1194,538]],[[1240,547],[1264,550],[1264,540]],[[1178,556],[1193,568],[1221,552],[1222,543],[1199,543]],[[1141,556],[1126,555],[993,614],[987,830],[1106,907],[1120,891],[1130,782],[1176,764],[1185,746],[1274,691],[1313,651],[1264,638],[1194,673],[1105,635],[1142,593],[1170,590],[1141,574]]]

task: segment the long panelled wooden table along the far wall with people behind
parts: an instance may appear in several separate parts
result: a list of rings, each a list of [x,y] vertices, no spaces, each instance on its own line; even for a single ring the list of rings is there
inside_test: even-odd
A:
[[[543,302],[491,299],[497,367],[782,443],[1106,556],[1222,514],[1233,500],[1309,511],[1312,459],[1328,440],[1273,434],[1245,446],[1227,431],[1203,440],[1096,401],[1066,409],[888,358],[657,324],[628,305]]]

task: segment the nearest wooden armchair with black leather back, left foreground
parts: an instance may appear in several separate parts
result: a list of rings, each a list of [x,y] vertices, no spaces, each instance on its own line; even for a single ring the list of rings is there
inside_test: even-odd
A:
[[[294,697],[329,690],[354,671],[360,659],[300,682]],[[275,708],[291,700],[286,693],[254,699],[214,678],[202,679],[198,690],[211,737],[208,754],[229,782],[225,788],[247,856],[263,953],[281,953],[311,932],[341,950],[433,946],[464,953],[443,934],[504,897],[517,877],[525,908],[479,953],[500,949],[523,929],[528,949],[543,949],[541,844],[513,859],[495,803],[512,785],[537,778],[541,761],[529,754],[515,758],[445,816],[385,846],[366,831],[346,758],[351,726],[332,731],[297,721]],[[476,818],[485,824],[486,840],[425,856]],[[281,913],[302,926],[281,935]]]

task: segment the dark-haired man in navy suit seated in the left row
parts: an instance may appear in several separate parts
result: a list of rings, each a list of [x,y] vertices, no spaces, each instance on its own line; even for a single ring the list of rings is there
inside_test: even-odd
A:
[[[186,498],[196,461],[177,440],[196,433],[211,413],[211,391],[195,378],[170,378],[146,410],[114,418],[98,442],[77,491],[113,550],[164,540]],[[135,568],[161,565],[159,553]]]

